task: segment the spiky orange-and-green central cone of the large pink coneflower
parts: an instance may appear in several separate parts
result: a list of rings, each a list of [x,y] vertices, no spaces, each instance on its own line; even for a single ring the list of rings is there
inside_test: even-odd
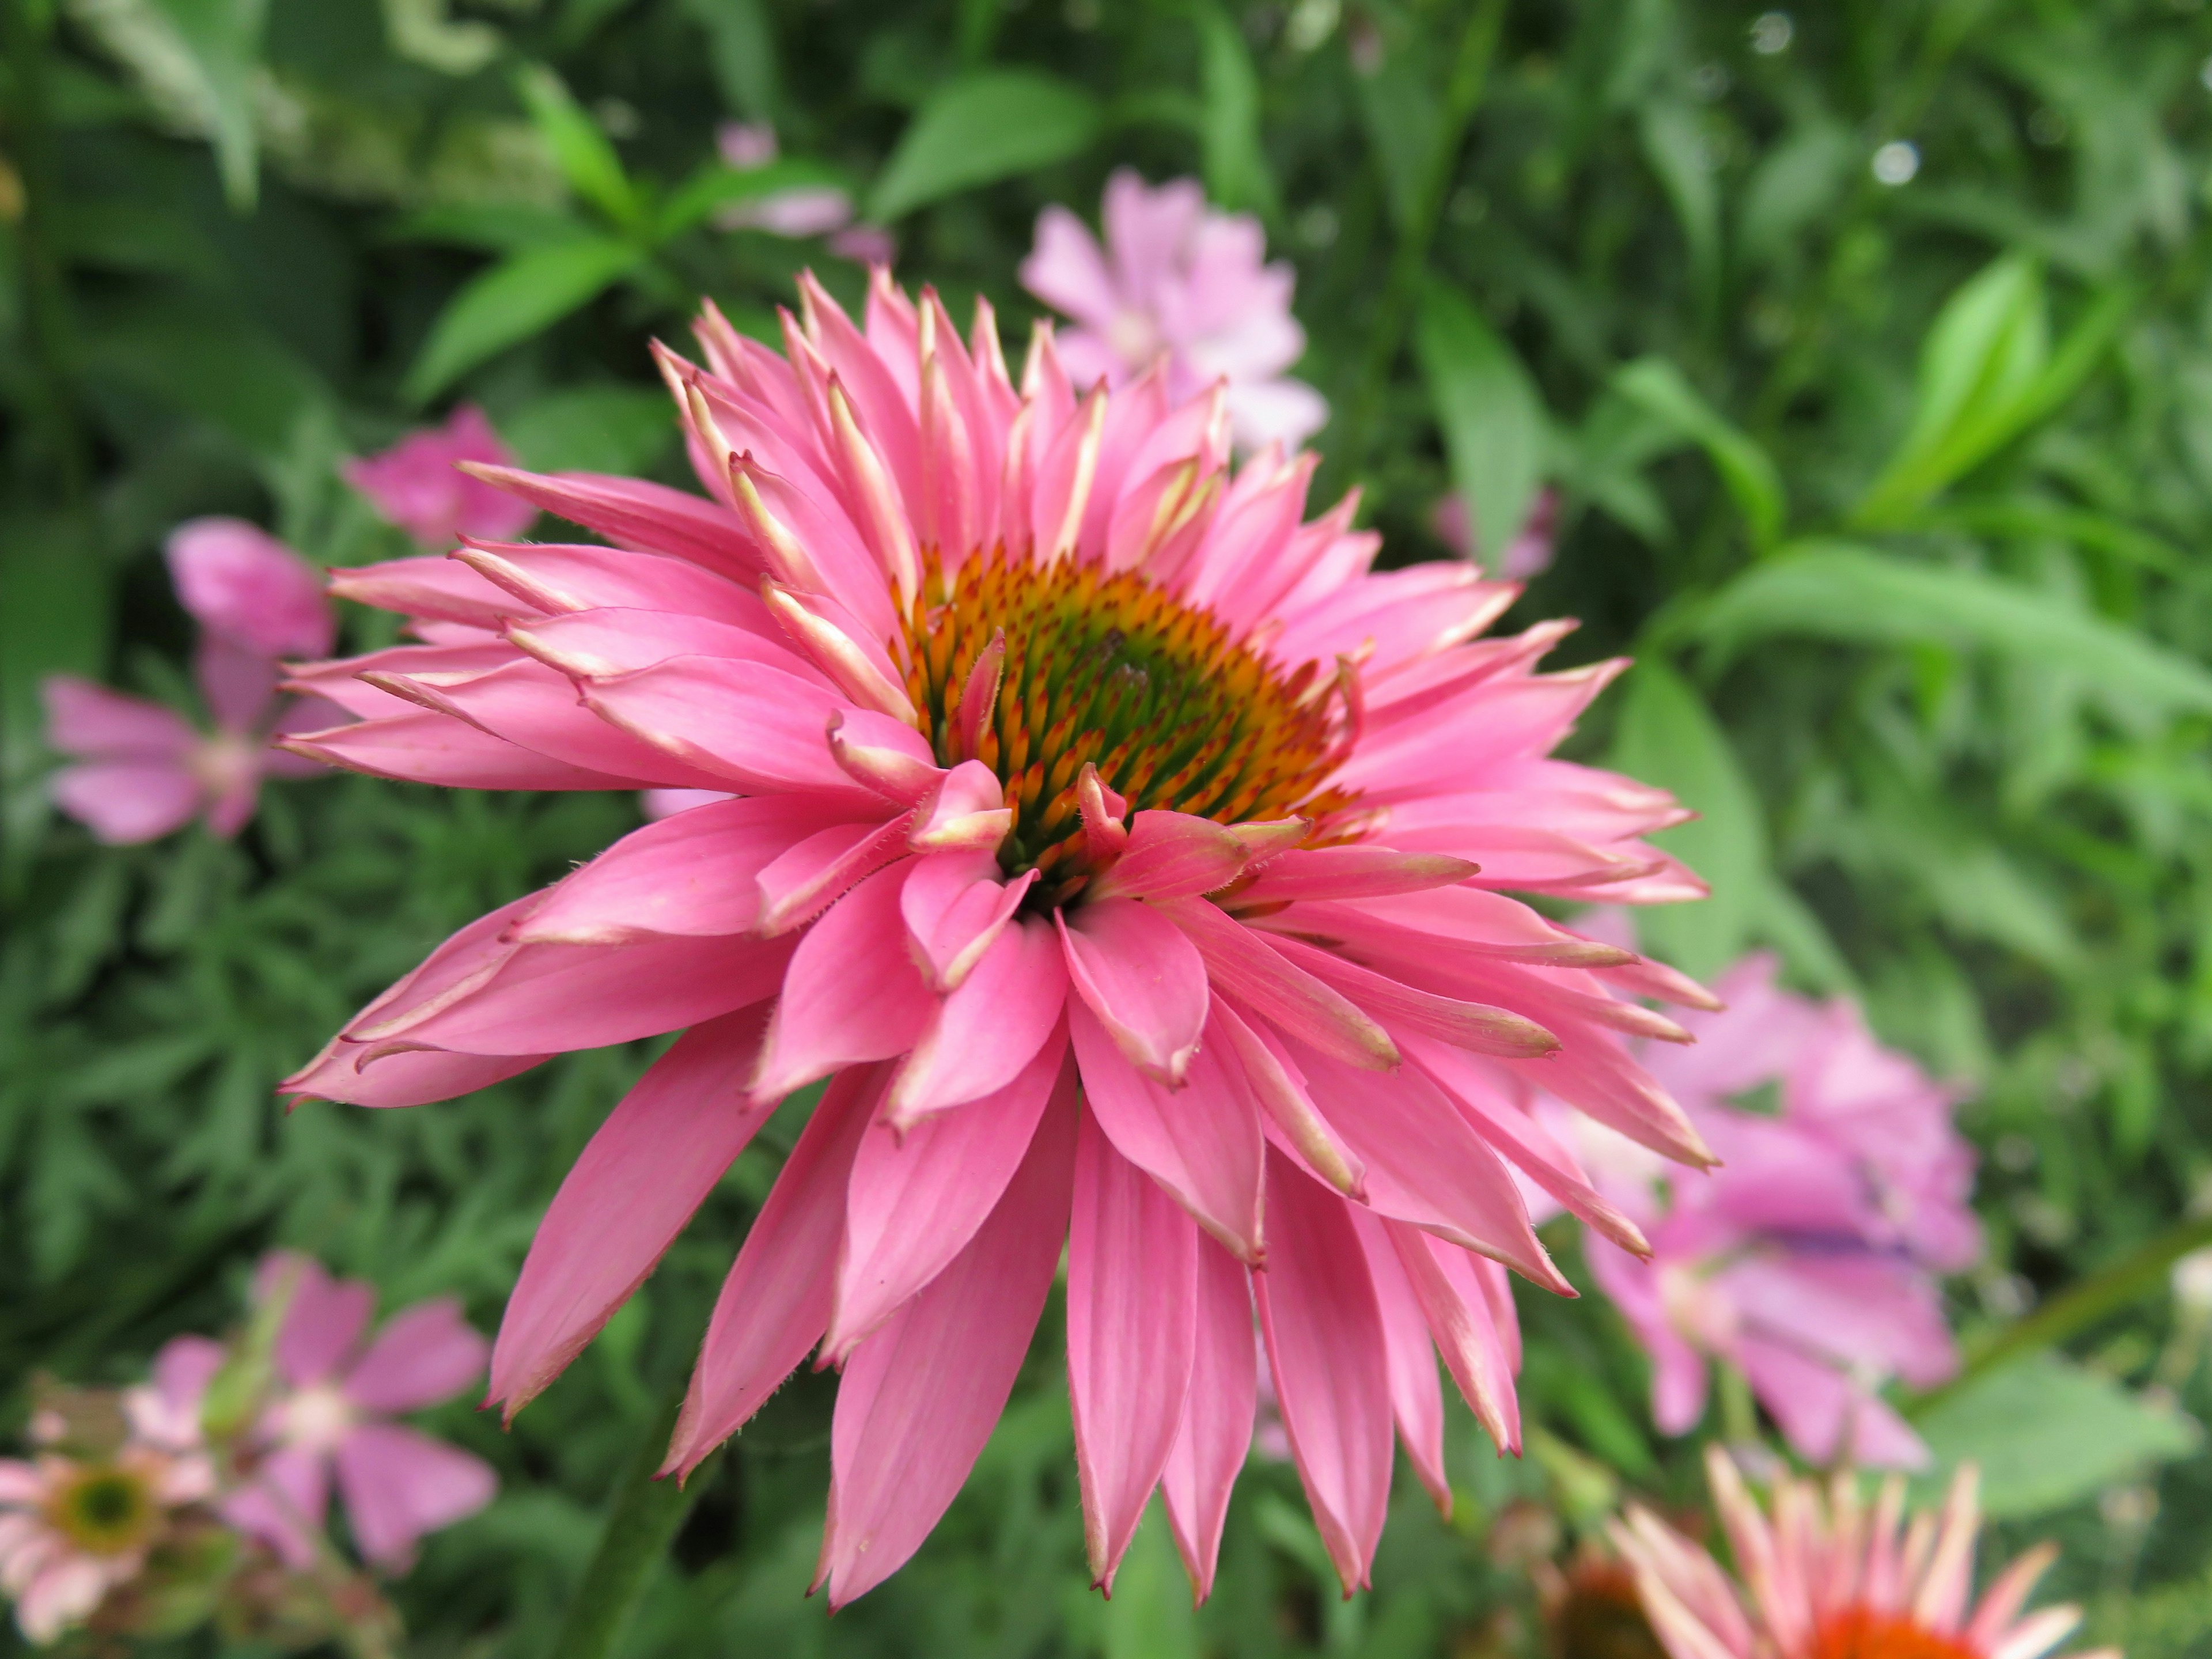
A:
[[[1276,672],[1210,611],[1133,571],[991,551],[947,575],[931,557],[907,613],[907,695],[940,765],[998,772],[1013,807],[1000,863],[1009,876],[1040,872],[1042,907],[1071,902],[1091,878],[1075,792],[1086,761],[1130,812],[1296,814],[1314,821],[1314,841],[1356,799],[1327,785],[1343,759],[1343,679],[1314,664]]]

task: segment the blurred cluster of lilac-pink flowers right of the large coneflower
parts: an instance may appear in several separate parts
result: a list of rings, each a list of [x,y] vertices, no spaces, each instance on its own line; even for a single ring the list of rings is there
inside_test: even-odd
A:
[[[1683,1018],[1694,1048],[1644,1060],[1721,1168],[1674,1179],[1619,1139],[1595,1152],[1599,1188],[1652,1254],[1593,1241],[1590,1272],[1652,1356],[1663,1431],[1703,1416],[1712,1356],[1743,1371],[1801,1455],[1916,1469],[1927,1449],[1878,1389],[1958,1369],[1938,1279],[1982,1241],[1955,1091],[1878,1044],[1854,1002],[1783,991],[1770,956],[1717,991],[1725,1011]]]

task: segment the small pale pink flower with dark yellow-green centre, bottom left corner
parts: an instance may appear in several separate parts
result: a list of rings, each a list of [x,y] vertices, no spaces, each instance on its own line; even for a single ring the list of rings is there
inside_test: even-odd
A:
[[[215,1491],[204,1455],[142,1438],[108,1458],[0,1458],[0,1590],[46,1644],[146,1566],[173,1511]]]

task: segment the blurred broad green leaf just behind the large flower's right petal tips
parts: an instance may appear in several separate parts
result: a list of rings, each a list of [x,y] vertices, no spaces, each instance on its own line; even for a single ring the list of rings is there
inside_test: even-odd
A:
[[[1741,956],[1770,902],[1767,821],[1705,701],[1657,657],[1628,670],[1606,765],[1672,790],[1699,816],[1650,841],[1705,878],[1712,898],[1639,911],[1637,931],[1686,973],[1708,978]]]

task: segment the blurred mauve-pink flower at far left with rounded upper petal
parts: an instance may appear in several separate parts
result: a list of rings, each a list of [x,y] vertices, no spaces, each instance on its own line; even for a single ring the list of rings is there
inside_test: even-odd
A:
[[[46,790],[115,845],[155,841],[192,818],[217,836],[237,834],[254,816],[263,776],[321,772],[270,748],[272,732],[336,717],[279,697],[279,659],[319,657],[336,633],[314,566],[254,524],[197,518],[168,538],[168,571],[199,622],[192,675],[212,730],[77,675],[40,684],[46,745],[71,761]]]

